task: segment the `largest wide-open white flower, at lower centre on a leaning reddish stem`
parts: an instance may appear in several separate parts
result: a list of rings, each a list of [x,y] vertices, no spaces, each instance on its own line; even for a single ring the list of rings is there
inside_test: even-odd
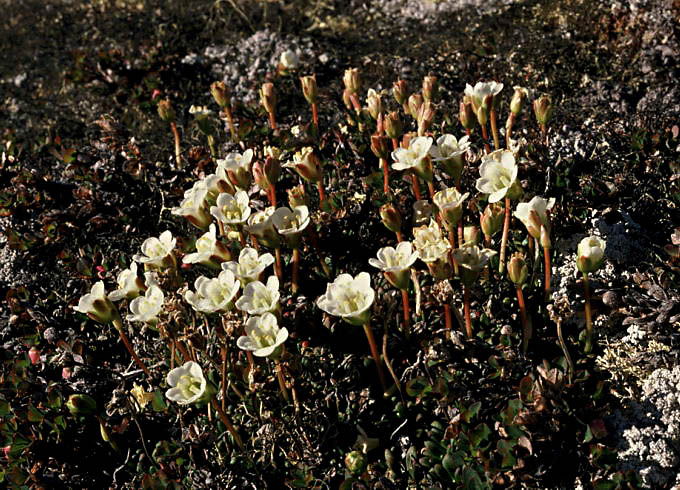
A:
[[[360,272],[354,278],[349,274],[340,274],[328,284],[326,294],[316,300],[316,305],[352,325],[365,325],[371,316],[370,308],[374,299],[375,291],[371,288],[368,272]]]

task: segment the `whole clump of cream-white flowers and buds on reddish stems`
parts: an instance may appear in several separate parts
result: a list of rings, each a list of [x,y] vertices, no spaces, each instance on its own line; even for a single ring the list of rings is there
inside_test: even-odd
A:
[[[508,285],[508,297],[518,299],[522,336],[516,347],[523,354],[531,351],[535,334],[524,291],[540,282],[533,282],[533,272],[541,266],[545,301],[551,292],[551,213],[557,204],[551,197],[526,195],[521,184],[526,141],[512,138],[520,124],[529,124],[529,118],[520,118],[531,98],[529,89],[515,87],[510,94],[505,137],[501,138],[498,120],[503,100],[508,98],[501,82],[467,84],[460,101],[442,100],[433,76],[426,77],[420,91],[412,92],[399,80],[392,87],[393,97],[373,89],[364,95],[361,73],[352,68],[343,77],[345,118],[339,128],[324,128],[327,121],[320,120],[318,110],[322,88],[317,87],[314,74],[299,73],[302,67],[293,55],[288,53],[285,63],[282,58],[277,77],[301,75],[296,86],[312,109],[306,133],[302,129],[304,137],[289,137],[292,128],[281,124],[281,118],[277,121],[279,78],[261,85],[266,117],[260,123],[269,137],[253,145],[243,139],[247,131],[239,132],[243,125],[234,114],[229,88],[222,82],[213,84],[211,94],[220,107],[219,117],[226,120],[239,150],[220,154],[220,125],[214,114],[208,107],[192,106],[190,113],[208,139],[213,163],[185,190],[171,213],[177,220],[186,220],[194,236],[177,237],[166,230],[147,238],[131,257],[129,268],[118,274],[117,284],[97,282],[75,307],[116,328],[138,372],[165,389],[177,410],[189,406],[214,410],[230,434],[233,449],[246,457],[249,437],[232,421],[229,413],[237,407],[227,406],[230,400],[259,396],[262,384],[275,377],[285,403],[296,411],[304,403],[295,379],[304,373],[291,369],[300,354],[287,349],[289,337],[296,333],[288,315],[292,307],[290,302],[282,304],[281,298],[300,294],[311,276],[320,275],[327,282],[325,292],[304,290],[316,293],[317,318],[330,315],[327,321],[332,317],[343,320],[346,325],[337,328],[347,329],[347,335],[358,335],[356,327],[363,328],[366,352],[385,394],[401,388],[399,374],[388,364],[386,344],[381,353],[374,335],[384,320],[374,318],[379,303],[386,301],[374,289],[382,277],[401,294],[397,318],[401,318],[399,330],[405,342],[416,323],[431,331],[444,327],[448,336],[460,330],[474,339],[478,329],[473,320],[478,316],[473,315],[471,297],[482,294],[485,284],[504,278],[507,250],[512,248],[507,270],[515,291],[508,282],[503,284]],[[552,114],[550,98],[537,97],[533,108],[545,141]],[[168,101],[159,103],[159,113],[173,129],[177,167],[186,168]],[[381,168],[382,182],[375,193],[381,194],[382,205],[374,208],[375,219],[394,233],[394,239],[383,246],[362,244],[374,247],[374,257],[367,263],[337,264],[324,248],[325,224],[343,211],[342,203],[327,197],[325,191],[329,175],[334,185],[343,185],[343,168],[332,159],[337,148],[330,151],[328,144],[319,142],[328,130],[364,135],[372,150],[366,152],[367,173],[378,173]],[[299,134],[300,128],[295,132]],[[288,172],[285,179],[282,172]],[[284,189],[277,186],[281,180],[297,181],[297,185]],[[475,184],[465,187],[465,182]],[[415,205],[405,206],[411,193]],[[280,204],[284,195],[287,206]],[[513,223],[513,216],[526,235]],[[411,222],[416,224],[411,227]],[[515,236],[521,234],[521,238],[511,243],[513,227]],[[543,261],[538,260],[539,246]],[[578,250],[577,264],[586,288],[586,352],[593,345],[588,274],[602,263],[604,250],[604,242],[596,237],[584,240]],[[302,254],[316,256],[321,269],[302,270],[314,262],[303,261]],[[421,321],[420,291],[425,284],[451,291],[441,299],[442,317],[429,318],[441,325],[423,326]],[[141,328],[161,340],[160,352],[135,350],[129,334]],[[161,362],[152,366],[152,359],[157,358]],[[258,373],[260,383],[254,382]],[[245,393],[243,383],[235,381],[239,376],[245,380]]]

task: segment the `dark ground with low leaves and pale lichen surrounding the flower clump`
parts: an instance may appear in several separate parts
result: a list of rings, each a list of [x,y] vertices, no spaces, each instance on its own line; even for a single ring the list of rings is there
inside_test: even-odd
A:
[[[27,0],[6,2],[5,9],[0,442],[11,449],[0,481],[43,488],[262,488],[282,481],[315,488],[343,481],[357,488],[451,488],[450,475],[442,471],[448,466],[435,457],[432,444],[446,451],[458,440],[454,432],[472,434],[473,426],[466,426],[471,421],[454,420],[465,419],[466,410],[480,401],[474,430],[484,424],[494,434],[486,436],[486,445],[463,450],[470,471],[451,477],[456,485],[680,485],[677,1]],[[295,331],[296,347],[290,350],[299,354],[309,345],[306,357],[289,366],[308,401],[302,414],[286,411],[275,382],[265,383],[263,375],[262,393],[269,390],[271,399],[258,399],[257,406],[249,399],[245,408],[235,404],[230,413],[244,434],[253,434],[252,460],[227,451],[225,439],[211,433],[198,410],[182,416],[156,400],[153,410],[137,411],[126,402],[132,389],[125,374],[129,355],[116,335],[77,316],[72,306],[98,278],[113,284],[147,237],[172,229],[189,248],[195,232],[169,210],[194,180],[212,172],[189,107],[214,106],[210,83],[223,80],[232,89],[240,124],[265,127],[257,91],[272,79],[286,50],[298,54],[302,73],[317,74],[320,151],[344,164],[345,173],[329,171],[327,179],[329,194],[344,199],[344,214],[331,213],[320,230],[336,271],[356,274],[374,256],[373,247],[348,246],[348,237],[380,246],[392,239],[371,203],[376,169],[363,163],[374,161],[366,140],[354,137],[351,128],[345,136],[339,129],[346,121],[341,98],[346,68],[360,68],[364,89],[384,90],[385,100],[399,78],[418,87],[423,76],[436,75],[437,124],[456,134],[462,131],[456,117],[466,83],[500,81],[507,87],[506,103],[516,85],[552,97],[549,144],[537,143],[530,110],[516,136],[528,148],[521,176],[525,192],[558,198],[553,298],[566,295],[577,313],[565,323],[578,354],[576,382],[550,374],[561,351],[539,304],[540,291],[530,306],[537,340],[525,358],[517,352],[519,327],[504,301],[507,291],[490,281],[474,298],[473,309],[483,312],[475,319],[482,333],[474,343],[445,340],[431,298],[414,326],[415,341],[390,336],[390,358],[409,389],[405,399],[381,400],[375,380],[367,381],[373,366],[362,361],[363,339],[356,346],[342,325],[321,325],[313,302],[327,279],[308,250],[303,256],[308,281],[301,294],[284,298]],[[276,83],[284,94],[279,124],[290,134],[306,124],[309,109],[296,77]],[[157,101],[166,97],[177,112],[188,164],[183,171],[174,166],[172,134],[157,115]],[[249,137],[258,143],[274,138],[265,129]],[[294,138],[280,141],[297,144]],[[219,139],[221,154],[236,149],[226,136]],[[464,184],[472,188],[476,177],[470,173]],[[294,182],[285,176],[281,189]],[[359,197],[355,202],[349,196]],[[578,338],[583,297],[574,251],[591,234],[607,240],[607,261],[592,275],[599,340],[595,353],[585,356]],[[385,300],[376,306],[378,316],[387,317],[389,294],[381,290],[379,296]],[[454,304],[461,304],[459,296]],[[504,344],[502,328],[509,325],[515,329],[509,341],[514,348]],[[157,389],[167,371],[157,355],[160,341],[143,331],[134,343],[158,363],[155,382],[147,386]],[[31,346],[40,351],[32,364]],[[413,382],[421,379],[429,380],[429,396]],[[546,380],[550,393],[538,388]],[[537,388],[527,391],[526,383]],[[550,408],[536,408],[535,390]],[[68,415],[63,402],[73,393],[91,395],[100,419]],[[522,420],[508,415],[515,399],[523,407]],[[249,409],[259,416],[250,416]],[[100,423],[117,443],[102,440]],[[519,428],[527,444],[504,450],[509,436],[496,432],[505,423]],[[377,447],[365,454],[368,471],[351,475],[343,458],[363,431],[378,439]],[[150,447],[139,447],[140,439]]]

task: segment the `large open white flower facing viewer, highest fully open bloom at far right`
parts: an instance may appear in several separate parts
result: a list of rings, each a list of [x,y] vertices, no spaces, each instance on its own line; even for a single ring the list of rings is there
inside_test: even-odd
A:
[[[496,150],[482,158],[479,166],[481,177],[477,179],[477,190],[489,194],[489,202],[498,202],[504,197],[517,197],[521,188],[517,182],[517,164],[509,150]]]

